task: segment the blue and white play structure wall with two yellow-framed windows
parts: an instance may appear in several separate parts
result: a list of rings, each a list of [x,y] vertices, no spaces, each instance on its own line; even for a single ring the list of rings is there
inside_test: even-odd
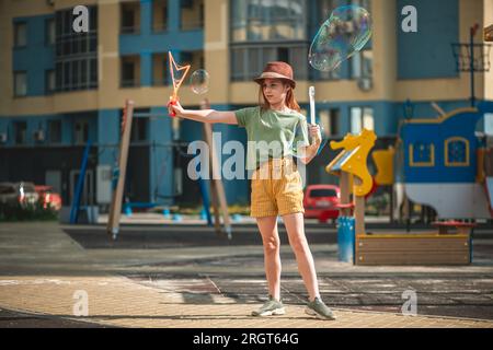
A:
[[[492,218],[493,174],[484,167],[491,153],[475,132],[485,114],[493,114],[492,102],[401,126],[394,162],[398,203],[401,192],[434,208],[438,219]]]

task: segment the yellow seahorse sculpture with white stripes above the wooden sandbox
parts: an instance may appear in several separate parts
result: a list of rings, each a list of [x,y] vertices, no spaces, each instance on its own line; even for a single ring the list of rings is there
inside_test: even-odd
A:
[[[368,171],[366,161],[368,153],[375,145],[377,136],[374,131],[363,129],[358,136],[347,135],[342,141],[331,142],[333,150],[344,149],[325,168],[328,173],[346,172],[362,179],[359,186],[354,187],[356,196],[366,196],[370,192],[374,179]]]

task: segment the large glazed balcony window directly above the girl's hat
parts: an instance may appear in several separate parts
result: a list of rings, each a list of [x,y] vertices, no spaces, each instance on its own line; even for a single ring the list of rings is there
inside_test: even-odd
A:
[[[296,67],[295,79],[307,80],[306,0],[231,1],[231,80],[250,81],[265,62],[282,60]]]

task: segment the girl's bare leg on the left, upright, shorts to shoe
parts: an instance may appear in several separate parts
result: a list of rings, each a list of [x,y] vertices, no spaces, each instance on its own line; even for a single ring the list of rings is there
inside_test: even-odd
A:
[[[277,217],[257,218],[256,224],[264,245],[264,267],[268,293],[276,300],[280,300],[280,241],[277,232]]]

